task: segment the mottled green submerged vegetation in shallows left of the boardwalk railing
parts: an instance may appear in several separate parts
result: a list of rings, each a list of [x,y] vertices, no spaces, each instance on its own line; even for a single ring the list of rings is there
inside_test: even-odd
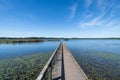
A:
[[[0,60],[0,80],[35,80],[51,53],[36,53]]]

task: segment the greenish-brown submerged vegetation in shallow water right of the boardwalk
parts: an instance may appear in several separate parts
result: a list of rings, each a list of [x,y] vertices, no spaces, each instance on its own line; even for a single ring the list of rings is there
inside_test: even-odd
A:
[[[120,80],[120,55],[104,52],[75,55],[89,80]]]

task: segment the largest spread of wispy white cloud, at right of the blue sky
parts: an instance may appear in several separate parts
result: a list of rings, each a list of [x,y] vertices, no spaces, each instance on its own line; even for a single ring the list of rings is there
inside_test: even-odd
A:
[[[117,9],[119,9],[119,5],[116,5],[115,3],[104,3],[103,4],[103,0],[97,0],[98,1],[98,5],[102,5],[97,7],[96,5],[96,9],[99,8],[100,11],[98,12],[94,12],[92,15],[87,13],[85,11],[85,13],[83,14],[83,20],[79,22],[79,26],[81,28],[86,28],[86,27],[97,27],[97,26],[104,26],[104,27],[109,27],[109,26],[114,26],[119,25],[120,23],[118,23],[117,18],[115,17],[115,13],[116,11],[118,11]],[[89,7],[92,4],[92,0],[86,0],[86,7],[87,7],[87,11],[89,11]],[[119,9],[120,10],[120,9]],[[92,12],[92,11],[91,11]],[[98,16],[95,16],[95,15]]]

